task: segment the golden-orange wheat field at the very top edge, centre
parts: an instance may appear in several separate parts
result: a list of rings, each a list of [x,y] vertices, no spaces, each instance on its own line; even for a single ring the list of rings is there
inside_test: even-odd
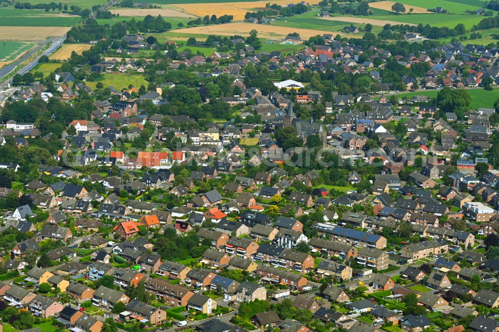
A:
[[[318,3],[319,0],[308,1],[310,4]],[[268,1],[244,1],[244,2],[222,2],[222,3],[177,3],[172,6],[180,8],[182,11],[204,17],[205,15],[233,15],[235,21],[245,19],[248,11],[255,8],[265,7]],[[289,0],[272,0],[276,4],[288,4]]]

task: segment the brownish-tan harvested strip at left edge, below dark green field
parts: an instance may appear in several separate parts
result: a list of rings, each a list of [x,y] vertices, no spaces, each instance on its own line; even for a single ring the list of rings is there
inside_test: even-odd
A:
[[[62,36],[70,29],[70,26],[2,26],[0,40],[43,40]]]

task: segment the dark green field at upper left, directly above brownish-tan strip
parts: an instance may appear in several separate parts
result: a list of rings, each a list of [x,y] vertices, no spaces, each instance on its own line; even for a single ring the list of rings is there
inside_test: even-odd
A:
[[[0,8],[1,26],[73,26],[80,16],[42,10]]]

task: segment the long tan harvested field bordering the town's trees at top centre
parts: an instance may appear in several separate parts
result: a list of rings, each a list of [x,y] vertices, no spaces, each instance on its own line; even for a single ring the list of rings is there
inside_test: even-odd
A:
[[[292,28],[285,26],[276,26],[271,24],[253,24],[253,23],[227,23],[227,24],[216,24],[216,25],[205,25],[196,26],[184,29],[177,29],[175,33],[189,33],[189,34],[217,34],[223,36],[232,36],[235,34],[240,35],[250,35],[250,31],[256,29],[258,31],[258,37],[267,39],[282,39],[288,33],[298,32],[301,39],[308,39],[312,36],[322,35],[324,33],[331,33],[330,31],[322,30],[312,30],[312,29],[301,29]],[[340,35],[345,35],[344,33],[339,33]],[[361,36],[359,36],[360,38]]]

